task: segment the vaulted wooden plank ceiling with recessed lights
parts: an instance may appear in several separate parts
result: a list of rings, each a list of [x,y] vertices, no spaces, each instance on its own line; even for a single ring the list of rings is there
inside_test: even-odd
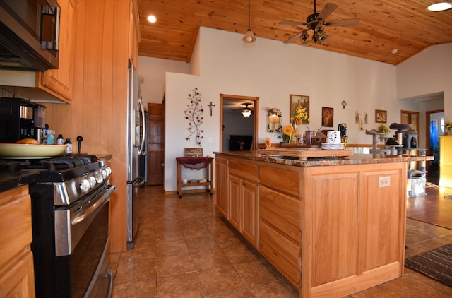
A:
[[[339,7],[326,20],[359,18],[353,27],[326,27],[326,44],[292,43],[318,47],[397,65],[433,44],[452,42],[452,9],[427,11],[433,0],[317,0],[319,13],[326,3]],[[141,25],[139,54],[190,61],[200,26],[245,33],[246,0],[138,0]],[[304,26],[280,25],[283,20],[304,22],[314,12],[311,0],[251,0],[251,30],[259,38],[284,42]],[[153,14],[157,23],[148,23]],[[396,54],[391,51],[397,50]]]

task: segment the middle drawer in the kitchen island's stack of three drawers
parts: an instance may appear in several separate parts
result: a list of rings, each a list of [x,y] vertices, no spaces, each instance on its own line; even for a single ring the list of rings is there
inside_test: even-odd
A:
[[[281,230],[294,242],[301,244],[302,231],[299,227],[299,222],[302,222],[300,218],[302,210],[300,201],[264,186],[261,186],[259,191],[261,218]]]

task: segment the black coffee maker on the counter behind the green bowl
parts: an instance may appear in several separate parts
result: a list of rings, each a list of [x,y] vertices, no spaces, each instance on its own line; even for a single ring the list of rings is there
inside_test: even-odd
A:
[[[45,106],[22,98],[0,98],[0,143],[34,138],[42,143]]]

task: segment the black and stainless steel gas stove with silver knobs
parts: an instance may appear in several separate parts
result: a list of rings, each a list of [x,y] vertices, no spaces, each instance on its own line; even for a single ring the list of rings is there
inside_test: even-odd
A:
[[[0,171],[37,172],[29,184],[36,297],[111,297],[111,169],[95,155],[0,160]]]

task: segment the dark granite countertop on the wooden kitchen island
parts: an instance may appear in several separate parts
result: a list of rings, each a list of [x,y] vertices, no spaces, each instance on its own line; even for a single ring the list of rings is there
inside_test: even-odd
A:
[[[434,160],[433,156],[410,155],[383,155],[383,154],[354,154],[350,157],[309,157],[307,160],[299,160],[298,157],[267,156],[254,151],[230,151],[214,152],[215,156],[236,157],[245,160],[257,160],[272,162],[280,165],[293,165],[297,167],[319,167],[331,165],[366,165],[388,162],[417,162]]]

